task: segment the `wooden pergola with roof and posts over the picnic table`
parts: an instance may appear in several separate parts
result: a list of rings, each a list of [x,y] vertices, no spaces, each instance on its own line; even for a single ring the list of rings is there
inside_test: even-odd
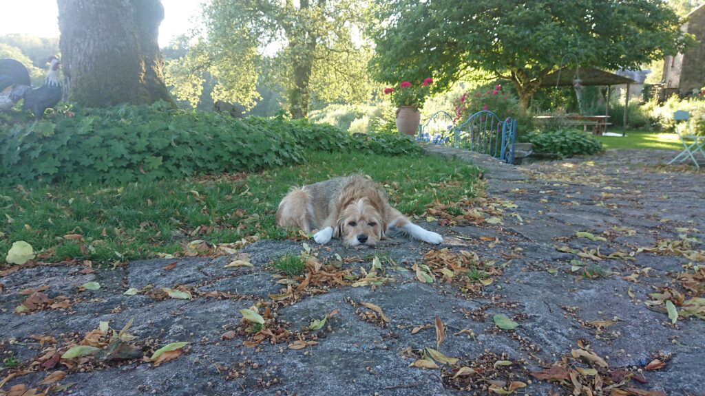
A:
[[[558,73],[560,71],[560,80],[558,79]],[[580,85],[583,87],[594,87],[594,86],[607,86],[607,100],[605,101],[605,116],[609,116],[610,112],[610,88],[613,85],[627,85],[627,95],[624,105],[624,122],[622,123],[622,136],[626,135],[627,132],[627,116],[629,113],[629,87],[635,84],[636,81],[631,78],[624,77],[622,75],[616,75],[614,73],[607,72],[605,70],[599,70],[596,68],[580,68]],[[575,80],[575,68],[563,67],[560,70],[556,70],[544,78],[541,82],[540,87],[572,87],[573,80]]]

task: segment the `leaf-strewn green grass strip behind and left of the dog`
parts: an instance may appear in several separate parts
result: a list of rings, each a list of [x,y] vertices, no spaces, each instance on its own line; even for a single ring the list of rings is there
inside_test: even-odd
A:
[[[292,185],[366,173],[385,185],[391,203],[407,215],[477,192],[479,169],[436,156],[307,154],[307,163],[246,178],[133,182],[126,185],[18,185],[0,187],[0,266],[12,242],[24,240],[43,261],[125,262],[180,254],[192,240],[230,243],[249,235],[283,239],[274,213]],[[82,235],[82,241],[63,237]]]

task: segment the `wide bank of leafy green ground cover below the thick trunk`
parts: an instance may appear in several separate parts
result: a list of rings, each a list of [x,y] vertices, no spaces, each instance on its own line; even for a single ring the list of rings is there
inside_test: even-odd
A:
[[[352,137],[331,125],[306,120],[240,120],[174,110],[164,103],[66,114],[54,114],[54,122],[0,124],[3,184],[125,183],[255,171],[299,163],[304,150],[355,148],[391,155],[420,150],[402,136]]]

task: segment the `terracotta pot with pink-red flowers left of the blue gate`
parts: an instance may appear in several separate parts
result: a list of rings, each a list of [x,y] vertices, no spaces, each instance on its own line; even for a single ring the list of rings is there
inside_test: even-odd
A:
[[[416,135],[421,122],[421,112],[429,95],[432,78],[427,78],[421,84],[414,86],[411,82],[403,81],[398,88],[385,88],[384,94],[391,96],[391,101],[396,105],[396,125],[400,133]]]

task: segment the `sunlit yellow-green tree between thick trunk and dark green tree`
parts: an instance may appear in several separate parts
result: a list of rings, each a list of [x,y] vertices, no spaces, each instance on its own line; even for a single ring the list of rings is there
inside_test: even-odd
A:
[[[283,87],[294,118],[307,116],[314,98],[369,99],[371,53],[353,39],[362,6],[362,0],[213,0],[204,8],[204,34],[178,64],[169,64],[168,82],[193,103],[209,73],[217,81],[214,100],[250,108],[264,76]]]

